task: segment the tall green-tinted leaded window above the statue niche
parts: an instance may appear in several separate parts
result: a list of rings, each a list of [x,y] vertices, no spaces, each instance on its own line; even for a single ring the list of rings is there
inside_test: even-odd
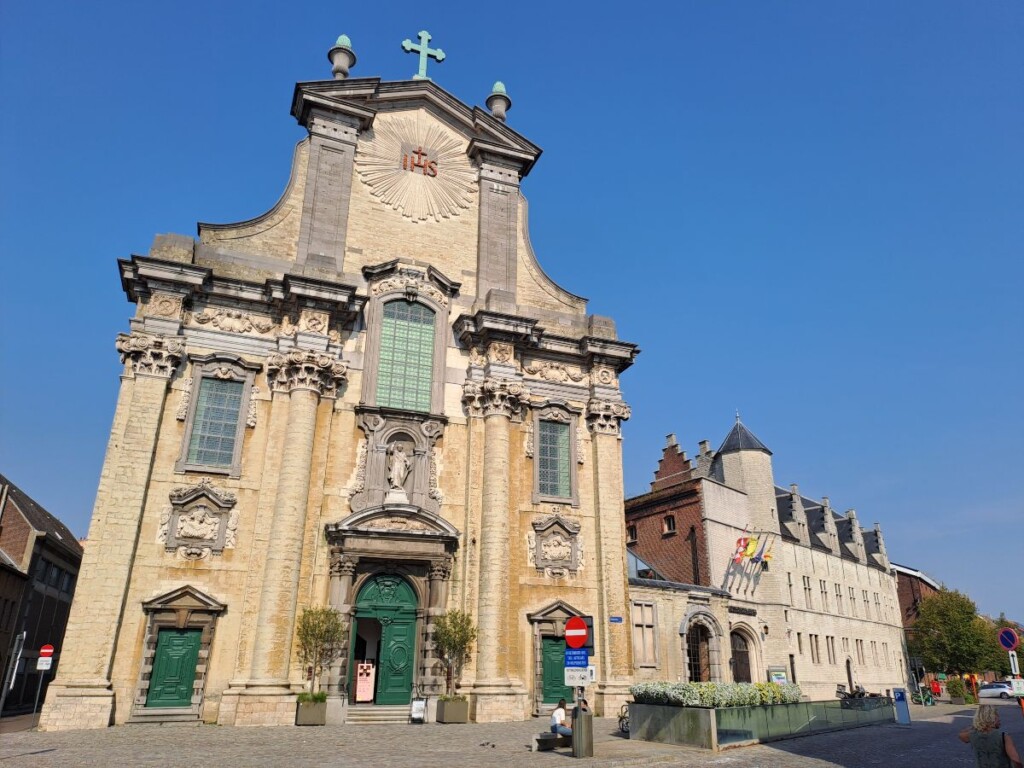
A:
[[[404,300],[384,305],[377,404],[430,411],[434,366],[434,312]]]

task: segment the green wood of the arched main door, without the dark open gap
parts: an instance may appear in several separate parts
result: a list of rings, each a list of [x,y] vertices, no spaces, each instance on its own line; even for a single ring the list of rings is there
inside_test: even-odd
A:
[[[416,593],[401,577],[381,573],[359,590],[356,621],[376,620],[381,625],[375,696],[379,705],[407,705],[412,698],[416,604]]]

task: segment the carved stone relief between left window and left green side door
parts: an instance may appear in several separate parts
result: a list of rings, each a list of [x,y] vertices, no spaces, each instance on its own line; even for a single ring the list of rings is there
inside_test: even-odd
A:
[[[157,541],[167,552],[200,560],[233,549],[239,524],[236,496],[215,487],[209,477],[174,488],[160,516]]]

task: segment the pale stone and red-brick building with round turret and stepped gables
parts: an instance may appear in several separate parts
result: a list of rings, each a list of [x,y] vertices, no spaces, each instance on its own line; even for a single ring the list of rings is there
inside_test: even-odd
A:
[[[626,501],[637,680],[907,684],[896,570],[881,527],[775,484],[738,417],[694,459],[669,435],[649,493]]]

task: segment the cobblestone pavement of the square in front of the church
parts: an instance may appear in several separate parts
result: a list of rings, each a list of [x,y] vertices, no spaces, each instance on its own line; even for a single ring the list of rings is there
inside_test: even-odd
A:
[[[1024,719],[1013,703],[1000,707],[1002,727],[1024,746]],[[868,726],[715,755],[621,738],[615,721],[594,721],[592,759],[578,765],[723,766],[724,768],[971,768],[970,749],[956,731],[970,724],[973,709],[912,708],[913,725]],[[927,719],[926,719],[927,718]],[[217,726],[118,726],[96,731],[0,737],[0,768],[27,766],[383,766],[417,768],[570,768],[567,751],[531,754],[538,721],[487,725],[402,725],[323,728],[220,728]]]

